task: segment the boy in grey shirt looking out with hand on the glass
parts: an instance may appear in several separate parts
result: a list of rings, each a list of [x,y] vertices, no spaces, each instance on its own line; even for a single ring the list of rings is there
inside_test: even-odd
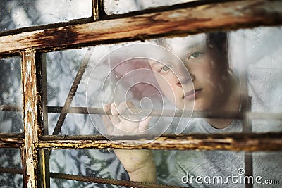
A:
[[[176,54],[183,61],[186,69],[183,70],[183,65],[169,60],[164,62],[149,60],[155,79],[171,104],[185,110],[194,108],[196,111],[218,113],[240,111],[241,92],[238,78],[228,68],[226,33],[166,39],[161,41],[161,45]],[[188,71],[190,76],[187,76],[185,71]],[[167,87],[168,84],[170,88]],[[126,108],[135,108],[135,106],[131,102],[104,106],[104,111],[111,111],[112,114],[109,115],[109,120],[104,118],[109,134],[147,130],[150,117],[140,122],[130,121],[122,116]],[[116,132],[119,128],[125,132]],[[186,133],[240,131],[242,131],[240,120],[211,118],[190,123],[185,130]],[[152,151],[115,150],[115,153],[128,171],[130,180],[157,181]],[[277,160],[281,161],[279,158]],[[259,158],[255,157],[254,161],[254,170],[261,170],[256,163]],[[244,184],[243,173],[239,172],[244,168],[243,152],[178,151],[172,162],[174,168],[168,177],[170,184],[189,187],[242,187]],[[274,172],[271,172],[271,168],[264,169],[264,173],[278,177],[277,169]],[[194,180],[191,180],[191,177],[194,177]],[[235,177],[237,179],[234,179]]]

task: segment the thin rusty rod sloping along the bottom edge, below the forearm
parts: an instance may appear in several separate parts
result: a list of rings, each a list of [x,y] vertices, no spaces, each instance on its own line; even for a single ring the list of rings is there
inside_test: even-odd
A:
[[[114,179],[106,179],[102,177],[89,177],[89,176],[69,175],[69,174],[62,174],[62,173],[51,173],[51,177],[64,179],[64,180],[75,180],[75,181],[80,181],[80,182],[94,182],[94,183],[99,183],[99,184],[112,184],[112,185],[125,186],[125,187],[182,188],[182,187],[162,185],[162,184],[133,182],[133,181],[125,181],[125,180],[114,180]]]

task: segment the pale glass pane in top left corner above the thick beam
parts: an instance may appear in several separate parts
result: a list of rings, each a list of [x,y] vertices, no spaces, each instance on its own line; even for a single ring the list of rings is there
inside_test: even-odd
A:
[[[2,0],[0,31],[66,22],[92,15],[91,0]]]

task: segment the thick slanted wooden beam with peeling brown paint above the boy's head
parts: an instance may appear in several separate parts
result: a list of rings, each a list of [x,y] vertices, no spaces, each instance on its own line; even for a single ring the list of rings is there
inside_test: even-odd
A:
[[[2,36],[0,55],[281,23],[282,1],[231,1]]]

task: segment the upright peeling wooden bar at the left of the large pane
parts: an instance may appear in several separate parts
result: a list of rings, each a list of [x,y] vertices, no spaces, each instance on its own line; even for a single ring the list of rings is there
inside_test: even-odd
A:
[[[25,140],[22,148],[23,187],[37,187],[37,149],[39,126],[37,123],[37,77],[35,50],[23,51],[23,120]]]

